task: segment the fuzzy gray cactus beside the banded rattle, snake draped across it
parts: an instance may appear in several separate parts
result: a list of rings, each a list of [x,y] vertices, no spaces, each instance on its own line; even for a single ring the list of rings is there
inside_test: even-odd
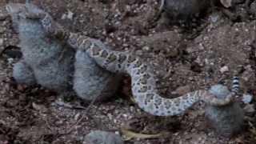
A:
[[[210,93],[223,99],[230,94],[230,90],[226,86],[215,85],[211,87]],[[244,113],[238,102],[230,102],[226,106],[206,107],[206,120],[222,136],[238,134],[242,130],[243,118]]]

